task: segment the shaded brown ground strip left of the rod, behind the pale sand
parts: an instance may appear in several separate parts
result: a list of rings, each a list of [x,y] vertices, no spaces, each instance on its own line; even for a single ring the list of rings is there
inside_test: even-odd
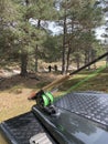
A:
[[[0,91],[20,88],[41,89],[56,78],[57,74],[53,73],[29,73],[25,78],[20,74],[10,78],[0,78]]]

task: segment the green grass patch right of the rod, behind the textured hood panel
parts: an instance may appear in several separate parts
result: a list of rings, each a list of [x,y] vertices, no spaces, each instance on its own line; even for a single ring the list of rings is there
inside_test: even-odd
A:
[[[108,70],[84,71],[63,84],[62,90],[108,92]]]

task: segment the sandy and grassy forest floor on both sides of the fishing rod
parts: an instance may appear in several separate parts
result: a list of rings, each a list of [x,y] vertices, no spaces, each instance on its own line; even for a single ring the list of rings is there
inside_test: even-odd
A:
[[[55,72],[44,72],[29,74],[21,78],[18,72],[15,74],[2,75],[0,70],[0,122],[31,110],[35,102],[28,101],[28,96],[32,91],[37,91],[55,79],[62,78]],[[97,70],[86,70],[74,76],[71,76],[54,95],[72,91],[100,91],[108,93],[108,68],[99,68]]]

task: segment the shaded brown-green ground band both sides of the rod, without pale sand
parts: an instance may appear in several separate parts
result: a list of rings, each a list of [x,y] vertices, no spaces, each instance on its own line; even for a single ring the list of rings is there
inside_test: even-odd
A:
[[[72,90],[108,90],[108,70],[104,70],[100,73],[97,73],[95,76],[90,78],[93,71],[84,71],[82,73],[72,76],[69,80],[65,81],[61,91]],[[26,78],[22,78],[20,74],[13,75],[11,78],[1,78],[0,79],[0,91],[4,90],[14,90],[14,89],[42,89],[54,80],[61,79],[58,73],[29,73]],[[88,78],[87,78],[88,76]],[[87,79],[87,80],[86,80]]]

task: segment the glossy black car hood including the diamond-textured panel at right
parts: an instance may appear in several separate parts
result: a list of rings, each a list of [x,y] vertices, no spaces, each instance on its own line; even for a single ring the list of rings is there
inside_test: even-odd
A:
[[[32,111],[60,144],[108,144],[108,115],[104,110],[107,109],[107,96],[73,93],[55,103],[57,115],[48,115],[37,106],[33,106]],[[89,107],[89,104],[93,106]]]

